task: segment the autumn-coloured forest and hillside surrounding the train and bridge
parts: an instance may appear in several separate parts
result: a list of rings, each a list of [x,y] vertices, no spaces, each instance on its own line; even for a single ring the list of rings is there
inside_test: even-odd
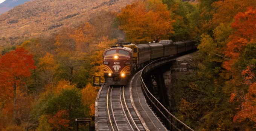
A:
[[[0,16],[1,35],[26,39],[0,41],[0,130],[76,130],[75,118],[94,115],[104,50],[162,39],[200,41],[172,96],[177,118],[200,131],[255,130],[255,0],[45,1]]]

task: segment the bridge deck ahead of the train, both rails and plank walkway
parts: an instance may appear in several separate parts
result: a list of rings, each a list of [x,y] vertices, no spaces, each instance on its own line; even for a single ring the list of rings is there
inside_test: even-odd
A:
[[[130,84],[123,88],[115,87],[112,89],[110,89],[109,85],[104,85],[98,93],[95,104],[95,128],[97,131],[166,131],[165,126],[146,103],[140,88],[140,71],[134,75]],[[111,93],[108,93],[108,90],[111,90]],[[123,93],[121,92],[122,90]],[[113,107],[112,110],[108,109],[107,103],[108,106]],[[121,107],[121,103],[123,104],[122,106],[127,107]],[[122,113],[122,110],[125,110],[126,113]],[[126,114],[127,116],[124,116]],[[115,118],[112,118],[112,116]],[[131,127],[129,128],[128,125],[131,125]]]

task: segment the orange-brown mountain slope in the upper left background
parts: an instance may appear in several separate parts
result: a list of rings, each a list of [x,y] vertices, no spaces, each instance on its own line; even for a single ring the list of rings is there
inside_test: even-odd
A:
[[[0,45],[76,26],[134,0],[33,0],[0,15]],[[1,39],[2,38],[2,39]]]

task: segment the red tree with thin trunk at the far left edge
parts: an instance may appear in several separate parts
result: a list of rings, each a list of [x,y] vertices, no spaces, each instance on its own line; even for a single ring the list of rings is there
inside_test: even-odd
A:
[[[31,76],[29,69],[34,69],[33,55],[23,48],[0,56],[0,86],[13,98],[13,123],[16,117],[16,90],[24,84],[24,79]]]

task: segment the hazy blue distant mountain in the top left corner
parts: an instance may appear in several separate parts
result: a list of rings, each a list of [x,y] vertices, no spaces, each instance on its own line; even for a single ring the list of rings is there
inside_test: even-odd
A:
[[[8,10],[11,10],[15,6],[23,4],[26,1],[29,1],[29,0],[6,0],[0,4],[0,14],[5,13]]]

